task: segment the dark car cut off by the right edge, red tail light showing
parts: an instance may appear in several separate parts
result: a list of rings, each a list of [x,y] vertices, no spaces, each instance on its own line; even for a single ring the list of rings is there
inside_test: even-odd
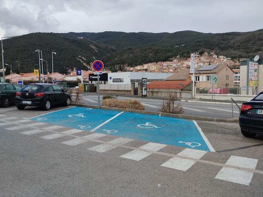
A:
[[[263,134],[263,92],[254,99],[244,102],[240,110],[241,133],[246,137]]]

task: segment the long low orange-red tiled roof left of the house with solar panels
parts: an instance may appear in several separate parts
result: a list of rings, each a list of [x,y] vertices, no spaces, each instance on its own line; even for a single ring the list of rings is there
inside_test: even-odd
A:
[[[178,81],[152,81],[147,84],[148,89],[183,89],[192,81],[178,80]],[[182,86],[179,87],[179,83]]]

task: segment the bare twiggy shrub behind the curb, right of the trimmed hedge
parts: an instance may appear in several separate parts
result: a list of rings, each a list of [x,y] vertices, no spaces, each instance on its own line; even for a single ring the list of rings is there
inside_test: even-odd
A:
[[[163,98],[162,106],[161,109],[159,109],[159,111],[170,114],[183,114],[183,106],[180,103],[175,104],[176,99],[177,94],[169,93],[169,96],[166,97],[166,100]]]

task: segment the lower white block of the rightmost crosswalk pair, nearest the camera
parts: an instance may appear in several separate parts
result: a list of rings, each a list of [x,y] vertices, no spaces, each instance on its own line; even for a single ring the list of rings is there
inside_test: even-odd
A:
[[[233,183],[249,185],[253,178],[253,174],[254,172],[246,170],[223,167],[215,178]]]

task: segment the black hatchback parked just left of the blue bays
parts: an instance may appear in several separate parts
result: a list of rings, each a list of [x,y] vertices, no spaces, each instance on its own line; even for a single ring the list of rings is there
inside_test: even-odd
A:
[[[16,93],[15,104],[17,109],[26,106],[38,106],[49,110],[56,104],[70,105],[70,94],[56,84],[34,83],[26,84]]]

